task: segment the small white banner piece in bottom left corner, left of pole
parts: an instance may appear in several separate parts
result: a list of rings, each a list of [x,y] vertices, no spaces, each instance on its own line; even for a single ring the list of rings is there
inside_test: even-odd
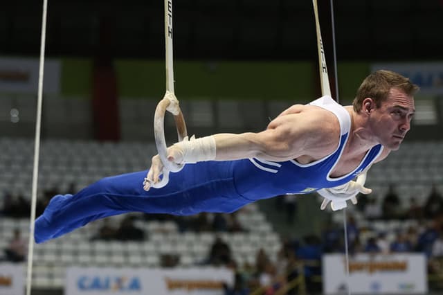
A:
[[[24,295],[23,265],[0,264],[0,295]]]

